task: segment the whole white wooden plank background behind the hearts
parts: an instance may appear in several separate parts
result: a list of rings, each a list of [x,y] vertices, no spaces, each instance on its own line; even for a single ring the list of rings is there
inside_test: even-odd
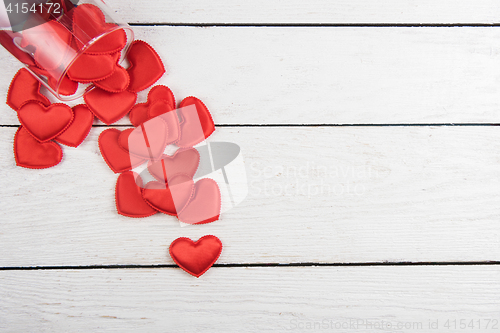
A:
[[[108,2],[241,146],[250,192],[209,225],[125,218],[102,124],[27,170],[1,104],[0,331],[500,331],[500,3]],[[224,250],[196,279],[168,246],[206,234]]]

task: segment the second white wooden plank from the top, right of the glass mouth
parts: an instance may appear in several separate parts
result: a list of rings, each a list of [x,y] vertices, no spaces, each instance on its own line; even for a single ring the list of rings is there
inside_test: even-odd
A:
[[[204,100],[219,124],[500,122],[500,29],[135,31],[167,66],[160,82]],[[5,50],[0,59],[4,100],[17,69]]]

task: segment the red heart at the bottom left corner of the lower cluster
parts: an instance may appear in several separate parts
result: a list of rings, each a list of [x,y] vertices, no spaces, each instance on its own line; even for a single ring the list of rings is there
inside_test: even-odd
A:
[[[148,217],[156,214],[156,210],[142,198],[141,187],[141,177],[132,171],[124,172],[118,177],[115,189],[118,214],[128,217]]]

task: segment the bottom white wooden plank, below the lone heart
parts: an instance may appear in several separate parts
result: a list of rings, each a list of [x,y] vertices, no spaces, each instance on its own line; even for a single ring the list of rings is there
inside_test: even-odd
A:
[[[2,271],[0,329],[498,332],[499,279],[484,266]]]

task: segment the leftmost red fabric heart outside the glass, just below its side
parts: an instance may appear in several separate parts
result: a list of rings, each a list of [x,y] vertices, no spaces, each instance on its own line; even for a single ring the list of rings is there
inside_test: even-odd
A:
[[[40,93],[40,81],[38,81],[27,69],[20,69],[12,82],[7,93],[7,104],[14,110],[19,110],[21,105],[29,100],[41,102],[45,106],[50,105],[47,97]]]

